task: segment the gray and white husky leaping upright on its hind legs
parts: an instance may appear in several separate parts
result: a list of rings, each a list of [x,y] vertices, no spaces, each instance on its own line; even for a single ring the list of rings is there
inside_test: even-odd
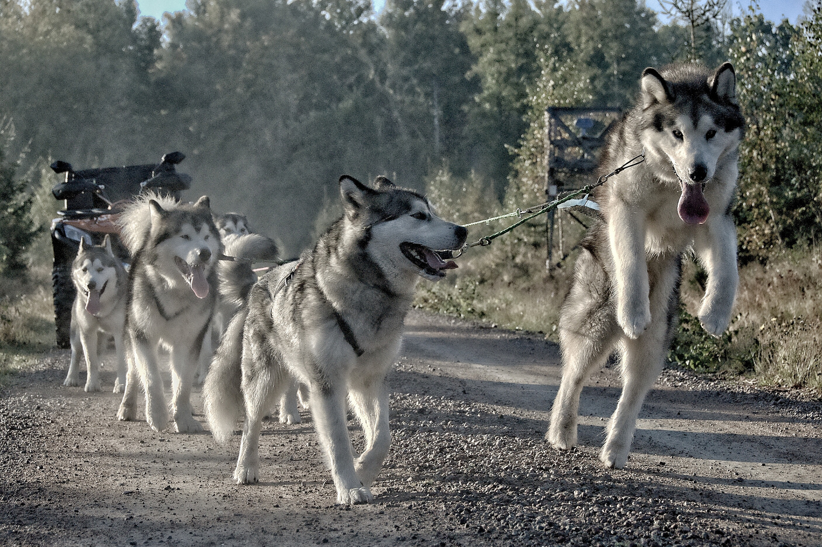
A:
[[[682,254],[692,249],[708,274],[699,318],[727,329],[737,293],[737,231],[730,206],[744,118],[736,76],[695,64],[647,68],[640,103],[608,136],[601,160],[612,172],[644,150],[644,163],[595,194],[594,223],[576,261],[560,317],[562,380],[546,438],[576,444],[584,380],[615,348],[623,388],[600,460],[624,467],[645,394],[663,369],[677,326]]]

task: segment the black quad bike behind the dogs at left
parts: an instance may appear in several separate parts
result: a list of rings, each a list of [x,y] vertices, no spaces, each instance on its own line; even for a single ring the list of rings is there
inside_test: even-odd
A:
[[[75,171],[72,165],[56,161],[51,168],[66,173],[65,182],[52,188],[57,200],[65,207],[52,221],[54,249],[52,282],[54,290],[54,323],[57,325],[58,347],[70,347],[69,328],[76,290],[72,283],[72,262],[81,239],[87,245],[99,245],[111,234],[113,250],[124,264],[131,261],[119,240],[116,223],[122,206],[142,191],[155,191],[180,198],[180,192],[191,186],[192,177],[178,173],[175,166],[186,159],[180,152],[165,154],[159,163],[128,165],[119,168],[95,168]]]

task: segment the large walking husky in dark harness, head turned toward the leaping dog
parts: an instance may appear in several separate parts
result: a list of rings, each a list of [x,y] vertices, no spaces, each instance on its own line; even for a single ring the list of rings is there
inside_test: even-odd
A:
[[[466,229],[437,218],[414,191],[385,177],[372,189],[339,179],[344,216],[300,260],[266,274],[229,323],[205,380],[205,415],[225,442],[245,412],[234,479],[258,480],[261,420],[293,379],[311,411],[339,503],[367,503],[388,453],[386,374],[420,276],[438,280]],[[346,399],[365,433],[353,454]]]

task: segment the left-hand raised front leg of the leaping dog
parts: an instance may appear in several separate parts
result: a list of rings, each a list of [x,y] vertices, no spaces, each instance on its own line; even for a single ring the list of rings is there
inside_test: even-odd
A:
[[[651,322],[645,227],[642,211],[614,200],[608,211],[608,239],[614,261],[617,322],[636,339]]]

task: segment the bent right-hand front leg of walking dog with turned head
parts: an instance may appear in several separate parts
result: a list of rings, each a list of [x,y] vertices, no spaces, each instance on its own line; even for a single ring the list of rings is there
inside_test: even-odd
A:
[[[388,425],[388,389],[385,381],[369,381],[349,386],[349,401],[365,434],[365,450],[354,462],[354,470],[371,487],[388,455],[391,434]]]

